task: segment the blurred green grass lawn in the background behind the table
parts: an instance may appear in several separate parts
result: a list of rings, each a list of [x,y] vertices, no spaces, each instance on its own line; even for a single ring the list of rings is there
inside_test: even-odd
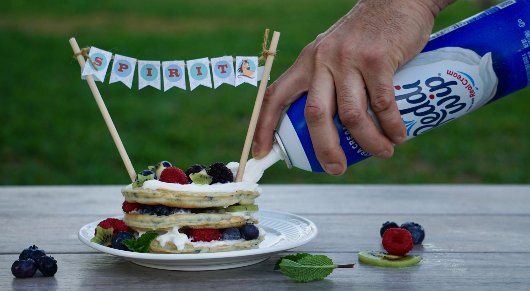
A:
[[[68,44],[145,60],[258,55],[264,29],[281,32],[271,81],[351,1],[0,2],[1,185],[130,183]],[[487,7],[459,0],[434,30]],[[110,71],[109,71],[110,72]],[[136,74],[136,73],[135,73]],[[137,171],[161,160],[187,168],[238,160],[257,88],[193,92],[98,83]],[[188,85],[189,87],[189,85]],[[261,183],[529,183],[528,89],[370,158],[345,175],[287,169]]]

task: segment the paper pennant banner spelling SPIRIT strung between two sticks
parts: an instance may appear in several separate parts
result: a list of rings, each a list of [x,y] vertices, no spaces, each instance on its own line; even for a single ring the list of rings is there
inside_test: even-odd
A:
[[[89,51],[89,49],[86,49],[86,51]],[[199,85],[217,89],[223,83],[232,86],[238,86],[243,83],[258,86],[258,81],[261,81],[264,68],[263,66],[258,67],[258,57],[236,57],[234,62],[231,56],[213,58],[211,61],[209,58],[185,62],[163,61],[161,68],[160,61],[137,60],[121,56],[120,54],[112,56],[109,51],[91,47],[85,68],[81,71],[81,79],[85,79],[87,75],[92,75],[94,80],[103,82],[112,59],[114,61],[112,62],[109,84],[120,81],[129,89],[133,88],[136,63],[138,63],[138,89],[152,86],[161,90],[162,79],[164,79],[164,92],[173,87],[183,90],[188,89],[185,76],[186,67],[188,67],[191,90]],[[98,70],[95,70],[94,66]]]

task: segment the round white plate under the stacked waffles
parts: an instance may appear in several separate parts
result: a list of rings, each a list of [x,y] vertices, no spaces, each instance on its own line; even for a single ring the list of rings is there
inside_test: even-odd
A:
[[[282,251],[304,245],[316,237],[315,224],[302,216],[273,210],[260,210],[254,216],[258,217],[260,228],[265,230],[267,234],[265,240],[260,243],[260,247],[253,250],[184,254],[116,250],[90,241],[94,237],[94,229],[100,221],[94,221],[83,226],[77,233],[77,237],[93,249],[129,260],[138,265],[182,271],[220,270],[249,266]],[[123,215],[116,216],[117,219],[122,217]]]

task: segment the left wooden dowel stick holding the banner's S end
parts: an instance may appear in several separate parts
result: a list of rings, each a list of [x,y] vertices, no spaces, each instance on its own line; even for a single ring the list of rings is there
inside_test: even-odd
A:
[[[69,42],[70,42],[70,46],[72,46],[72,49],[74,50],[74,53],[78,53],[81,51],[75,38],[71,38]],[[77,61],[79,62],[79,65],[81,66],[81,70],[83,70],[85,68],[85,59],[83,58],[83,56],[82,55],[77,56]],[[110,135],[112,135],[112,139],[114,140],[114,143],[116,143],[116,147],[118,148],[118,151],[120,152],[121,159],[123,160],[123,163],[125,163],[125,168],[127,168],[129,177],[131,178],[132,181],[134,181],[134,179],[136,178],[136,172],[133,168],[133,164],[131,163],[129,156],[127,156],[127,151],[125,151],[125,148],[123,147],[123,143],[121,143],[121,139],[120,139],[120,136],[118,135],[118,131],[116,130],[116,127],[114,127],[114,123],[112,122],[112,119],[110,118],[109,111],[107,110],[107,107],[105,106],[105,103],[103,102],[103,98],[101,98],[101,94],[99,93],[98,86],[96,86],[96,83],[94,82],[94,78],[92,78],[92,75],[88,75],[85,77],[86,77],[86,83],[89,83],[90,89],[92,90],[92,94],[94,95],[94,98],[96,99],[96,103],[98,103],[101,114],[103,114],[103,119],[105,120],[105,123],[107,123],[107,126],[110,131]]]

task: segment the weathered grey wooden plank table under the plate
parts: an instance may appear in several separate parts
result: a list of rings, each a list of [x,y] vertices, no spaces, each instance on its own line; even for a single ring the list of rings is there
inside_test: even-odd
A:
[[[296,213],[319,228],[294,252],[325,254],[354,269],[335,269],[322,281],[298,283],[272,267],[217,271],[141,267],[82,244],[84,224],[121,213],[120,186],[0,187],[0,289],[38,290],[514,290],[530,289],[530,186],[494,185],[262,185],[262,209]],[[357,261],[361,250],[382,251],[385,221],[417,222],[426,230],[409,268]],[[37,272],[16,279],[11,264],[37,244],[58,261],[55,277]],[[290,252],[285,252],[285,255]]]

